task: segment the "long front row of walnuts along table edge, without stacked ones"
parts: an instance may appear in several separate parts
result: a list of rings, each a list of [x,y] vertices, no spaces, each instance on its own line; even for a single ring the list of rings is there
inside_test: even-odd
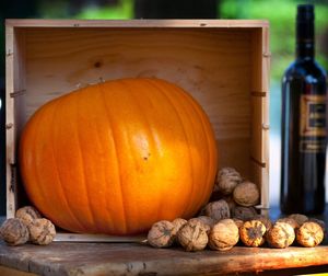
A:
[[[223,200],[223,199],[222,199]],[[222,202],[220,202],[222,204]],[[306,218],[297,222],[293,217]],[[313,248],[320,244],[325,235],[325,223],[294,214],[272,222],[265,216],[255,215],[251,219],[221,218],[200,216],[185,220],[155,222],[148,233],[148,243],[154,248],[181,245],[186,251],[211,250],[225,251],[238,242],[246,246],[284,249],[297,244]]]

